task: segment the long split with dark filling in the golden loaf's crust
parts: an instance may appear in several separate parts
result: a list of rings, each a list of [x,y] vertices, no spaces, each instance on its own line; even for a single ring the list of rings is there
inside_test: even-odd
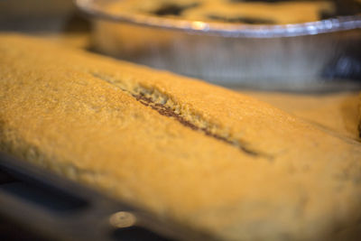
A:
[[[180,110],[179,104],[174,103],[171,100],[171,97],[167,97],[156,89],[144,88],[140,86],[129,88],[125,87],[125,84],[119,79],[113,79],[100,73],[92,72],[90,74],[97,79],[102,79],[111,85],[115,85],[117,88],[120,88],[131,97],[134,97],[144,106],[153,108],[162,116],[167,116],[175,119],[181,125],[187,126],[194,131],[199,131],[203,134],[213,137],[218,141],[231,144],[248,155],[264,157],[270,161],[273,160],[273,156],[271,156],[270,154],[252,150],[249,147],[246,147],[245,144],[242,144],[239,140],[228,137],[229,134],[217,134],[214,130],[218,129],[218,126],[208,123],[201,116],[187,113],[187,116],[189,117],[187,119],[185,115],[181,115],[182,111]]]

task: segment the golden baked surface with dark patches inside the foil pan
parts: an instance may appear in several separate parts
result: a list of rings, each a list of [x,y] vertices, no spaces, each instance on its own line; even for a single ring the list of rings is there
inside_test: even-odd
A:
[[[124,0],[110,2],[106,11],[216,23],[288,24],[360,14],[361,4],[357,0]]]

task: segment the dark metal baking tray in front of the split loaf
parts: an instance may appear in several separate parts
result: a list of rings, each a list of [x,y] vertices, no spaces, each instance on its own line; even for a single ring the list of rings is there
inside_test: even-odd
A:
[[[212,240],[0,153],[0,240]]]

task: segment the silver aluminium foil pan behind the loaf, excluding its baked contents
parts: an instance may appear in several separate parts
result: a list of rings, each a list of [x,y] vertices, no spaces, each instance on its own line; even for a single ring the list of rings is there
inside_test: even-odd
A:
[[[309,23],[220,23],[108,11],[114,2],[76,0],[93,20],[93,47],[101,53],[237,88],[361,86],[361,14]]]

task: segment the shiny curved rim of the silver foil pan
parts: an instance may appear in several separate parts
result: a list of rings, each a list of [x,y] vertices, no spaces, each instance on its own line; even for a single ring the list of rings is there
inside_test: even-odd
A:
[[[172,19],[145,14],[112,14],[99,7],[99,0],[75,0],[79,9],[97,20],[232,38],[280,38],[361,29],[361,15],[339,16],[308,23],[245,24]],[[101,2],[101,1],[100,1]]]

